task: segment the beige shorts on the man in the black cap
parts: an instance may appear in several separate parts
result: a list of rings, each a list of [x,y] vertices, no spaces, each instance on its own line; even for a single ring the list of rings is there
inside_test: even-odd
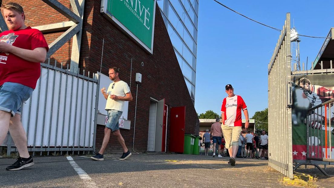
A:
[[[241,126],[227,126],[221,125],[221,129],[223,130],[224,138],[225,138],[225,147],[226,149],[230,149],[232,146],[239,146],[239,136],[242,131]]]

